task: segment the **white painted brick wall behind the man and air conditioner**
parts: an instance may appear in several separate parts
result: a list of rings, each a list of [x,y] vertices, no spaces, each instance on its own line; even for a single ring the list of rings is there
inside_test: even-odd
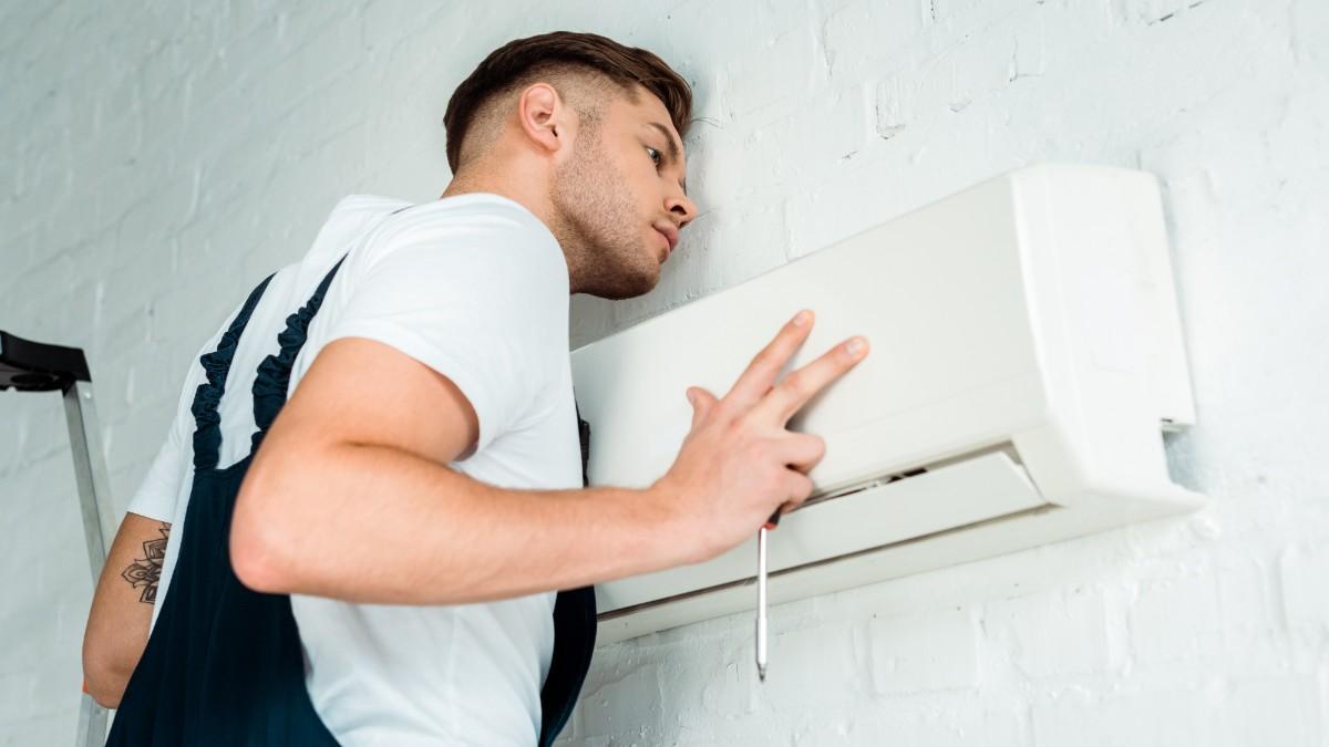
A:
[[[1201,425],[1181,520],[601,649],[563,743],[1329,744],[1329,4],[0,1],[0,328],[85,347],[128,501],[199,340],[343,194],[447,183],[492,48],[672,61],[703,215],[575,344],[1010,167],[1159,174]],[[56,397],[0,395],[0,742],[65,744],[90,595]]]

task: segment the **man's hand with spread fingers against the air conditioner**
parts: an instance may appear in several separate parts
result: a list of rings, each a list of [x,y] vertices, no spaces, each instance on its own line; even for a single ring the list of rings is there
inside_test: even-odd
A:
[[[752,359],[723,400],[700,387],[687,389],[692,427],[670,471],[649,493],[659,502],[675,537],[694,542],[690,562],[710,560],[752,536],[777,509],[789,510],[812,493],[807,473],[825,443],[785,424],[813,396],[859,364],[867,340],[852,338],[791,372],[780,370],[812,331],[812,312],[787,323]],[[851,351],[860,342],[861,350]]]

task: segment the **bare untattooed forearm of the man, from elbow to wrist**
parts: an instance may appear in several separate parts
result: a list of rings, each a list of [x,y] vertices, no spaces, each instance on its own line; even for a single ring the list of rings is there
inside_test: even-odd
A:
[[[388,447],[260,449],[238,500],[231,557],[241,580],[263,591],[482,602],[680,562],[645,498],[626,488],[496,488]]]

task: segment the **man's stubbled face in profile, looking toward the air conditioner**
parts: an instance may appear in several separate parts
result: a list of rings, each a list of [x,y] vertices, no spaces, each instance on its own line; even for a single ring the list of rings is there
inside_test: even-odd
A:
[[[598,122],[579,128],[550,190],[573,291],[607,299],[646,294],[659,282],[670,242],[696,217],[684,193],[683,144],[668,110],[646,89],[637,104],[614,97]]]

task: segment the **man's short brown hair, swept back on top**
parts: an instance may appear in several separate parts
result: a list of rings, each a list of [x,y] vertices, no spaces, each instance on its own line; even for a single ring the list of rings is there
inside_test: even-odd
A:
[[[560,96],[567,97],[553,81],[566,76],[589,76],[613,84],[629,101],[638,101],[637,85],[664,104],[679,137],[687,134],[692,116],[692,89],[663,60],[637,47],[595,33],[556,31],[517,39],[489,53],[480,66],[461,81],[448,101],[443,125],[448,130],[448,166],[456,174],[461,145],[486,104],[541,78],[549,80]],[[598,108],[589,109],[598,113]],[[578,108],[578,116],[586,109]]]

